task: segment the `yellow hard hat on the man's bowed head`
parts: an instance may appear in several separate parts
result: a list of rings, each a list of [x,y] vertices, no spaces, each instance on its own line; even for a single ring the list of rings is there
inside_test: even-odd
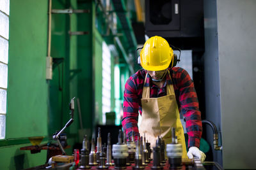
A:
[[[166,39],[160,36],[149,38],[141,52],[140,63],[148,71],[160,71],[168,68],[173,59],[173,50]]]

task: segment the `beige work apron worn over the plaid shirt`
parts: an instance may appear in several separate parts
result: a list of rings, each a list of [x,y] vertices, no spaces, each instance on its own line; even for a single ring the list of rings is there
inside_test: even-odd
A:
[[[147,80],[147,74],[144,85]],[[168,74],[170,76],[169,71]],[[188,158],[173,85],[166,85],[166,90],[166,96],[150,98],[150,87],[143,87],[139,132],[141,136],[145,133],[146,139],[150,142],[151,148],[153,148],[156,146],[158,136],[163,137],[165,144],[172,143],[172,127],[175,127],[178,143],[182,145],[182,158]]]

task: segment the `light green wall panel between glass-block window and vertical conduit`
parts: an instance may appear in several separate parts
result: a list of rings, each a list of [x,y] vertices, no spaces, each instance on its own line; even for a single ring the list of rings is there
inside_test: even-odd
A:
[[[47,1],[10,1],[6,138],[47,135],[46,54]]]

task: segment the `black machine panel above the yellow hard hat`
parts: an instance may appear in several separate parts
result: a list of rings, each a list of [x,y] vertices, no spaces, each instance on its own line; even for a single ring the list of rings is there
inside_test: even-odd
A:
[[[147,0],[145,17],[145,31],[149,37],[204,36],[203,0]]]

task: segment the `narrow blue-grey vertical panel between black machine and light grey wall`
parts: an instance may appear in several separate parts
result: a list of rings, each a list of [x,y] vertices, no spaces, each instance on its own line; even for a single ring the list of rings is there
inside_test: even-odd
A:
[[[216,0],[204,1],[204,28],[205,28],[205,118],[213,122],[221,138],[221,108],[220,108],[220,70],[218,54],[218,28]],[[222,153],[213,148],[212,129],[204,125],[207,141],[211,143],[211,150],[207,160],[222,164]],[[221,139],[219,140],[221,143]]]

